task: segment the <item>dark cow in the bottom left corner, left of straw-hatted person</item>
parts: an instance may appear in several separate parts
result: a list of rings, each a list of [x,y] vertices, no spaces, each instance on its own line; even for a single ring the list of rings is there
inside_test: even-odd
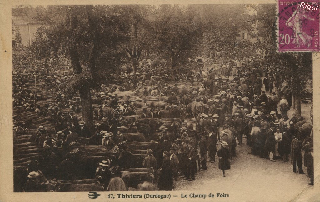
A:
[[[14,167],[13,169],[13,192],[23,192],[23,185],[28,180],[28,167]]]

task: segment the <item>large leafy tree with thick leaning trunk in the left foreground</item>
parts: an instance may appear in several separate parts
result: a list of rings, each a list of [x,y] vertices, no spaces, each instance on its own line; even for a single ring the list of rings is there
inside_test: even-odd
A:
[[[38,19],[48,25],[48,48],[71,59],[75,75],[64,91],[69,96],[79,92],[82,119],[93,128],[90,90],[117,75],[124,56],[120,44],[128,32],[124,12],[104,5],[48,6],[38,11]]]

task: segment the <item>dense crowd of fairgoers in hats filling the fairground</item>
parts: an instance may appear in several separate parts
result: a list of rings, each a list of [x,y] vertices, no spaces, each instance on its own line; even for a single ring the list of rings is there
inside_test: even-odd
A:
[[[15,56],[14,110],[48,117],[55,130],[50,134],[44,125],[38,126],[36,144],[43,148],[44,174],[40,170],[30,172],[25,191],[39,191],[39,177],[44,175],[62,180],[76,175],[70,172],[76,163],[72,155],[61,155],[57,152],[60,149],[69,151],[79,142],[116,153],[127,142],[126,133],[138,132],[159,145],[146,150],[142,165],[154,168],[160,190],[174,189],[180,175],[195,180],[197,170],[207,170],[207,162],[215,163],[216,155],[225,177],[236,147],[243,146],[244,141],[250,147],[248,153],[270,161],[288,162],[291,154],[293,172],[301,174],[301,150],[305,150],[304,166],[313,184],[312,125],[301,128],[301,121],[306,121],[288,115],[292,107],[290,81],[265,64],[268,53],[262,47],[261,43],[245,43],[217,48],[204,67],[187,72],[173,71],[168,61],[154,55],[142,59],[135,73],[128,64],[114,84],[92,89],[92,101],[97,105],[93,110],[94,131],[80,118],[80,98],[67,97],[60,89],[73,74],[69,60],[60,57],[40,64],[28,54]],[[35,81],[41,88],[26,87]],[[128,91],[133,94],[123,96]],[[45,97],[51,97],[49,103],[43,103]],[[133,117],[131,122],[128,117]],[[169,120],[171,125],[148,128],[141,120],[150,118]],[[14,136],[28,132],[19,114],[14,115],[13,123]],[[114,183],[124,182],[110,170],[111,161],[102,161],[95,177],[113,190]]]

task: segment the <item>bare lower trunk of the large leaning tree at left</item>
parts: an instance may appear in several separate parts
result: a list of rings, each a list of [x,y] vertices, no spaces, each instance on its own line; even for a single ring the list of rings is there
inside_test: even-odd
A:
[[[86,122],[89,130],[93,131],[94,124],[90,88],[87,86],[82,86],[79,89],[79,94],[81,100],[82,120]]]

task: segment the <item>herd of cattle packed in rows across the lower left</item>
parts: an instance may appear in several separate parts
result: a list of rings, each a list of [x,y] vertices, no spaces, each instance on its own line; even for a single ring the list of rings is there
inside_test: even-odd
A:
[[[38,101],[43,103],[54,103],[54,97],[45,95],[44,100]],[[153,102],[154,103],[154,102]],[[161,106],[164,108],[164,106]],[[66,109],[63,109],[66,111]],[[68,110],[68,109],[67,109]],[[104,111],[107,108],[103,109]],[[15,120],[24,122],[24,131],[14,132],[13,137],[13,158],[14,158],[14,191],[21,192],[23,185],[28,180],[28,173],[32,171],[43,171],[46,175],[46,166],[43,157],[43,145],[37,145],[36,133],[37,127],[43,125],[48,135],[56,134],[54,128],[55,121],[52,117],[42,117],[35,112],[21,112],[19,109],[14,109]],[[81,118],[80,114],[77,114]],[[168,135],[171,139],[176,139],[176,135],[180,131],[181,119],[156,119],[156,118],[139,118],[140,115],[132,115],[125,117],[127,126],[134,120],[140,123],[138,130],[140,132],[131,133],[128,127],[119,128],[123,135],[127,137],[127,141],[117,145],[118,149],[108,151],[104,146],[81,144],[74,142],[65,147],[63,150],[58,147],[53,147],[53,152],[57,155],[57,164],[59,165],[65,159],[65,155],[70,153],[70,160],[74,162],[75,169],[72,181],[66,181],[59,178],[45,178],[45,189],[43,191],[101,191],[106,190],[102,184],[94,179],[95,171],[98,163],[103,160],[110,162],[112,170],[118,170],[121,178],[126,186],[132,190],[137,188],[139,184],[144,182],[154,182],[155,171],[153,168],[143,168],[142,162],[147,157],[147,149],[152,149],[158,162],[158,167],[161,166],[162,152],[169,150],[170,145],[164,146],[161,142],[147,141],[156,140],[158,133],[156,131],[160,126],[167,128]],[[112,117],[110,117],[112,118]],[[21,128],[20,128],[21,129]],[[57,168],[59,172],[59,168]]]

